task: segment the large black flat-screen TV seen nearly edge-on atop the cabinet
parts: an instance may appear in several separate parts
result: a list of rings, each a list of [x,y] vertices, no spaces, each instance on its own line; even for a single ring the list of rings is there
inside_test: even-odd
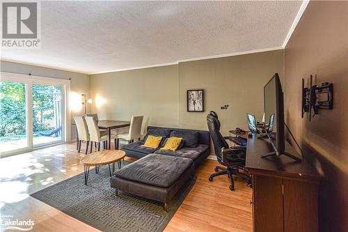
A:
[[[284,127],[284,98],[282,86],[278,73],[267,82],[264,86],[264,117],[267,120],[270,119],[270,127],[272,130],[265,130],[267,137],[274,148],[274,152],[263,155],[267,157],[269,155],[287,155],[294,160],[299,160],[285,150],[285,127]],[[273,122],[273,123],[272,123]]]

